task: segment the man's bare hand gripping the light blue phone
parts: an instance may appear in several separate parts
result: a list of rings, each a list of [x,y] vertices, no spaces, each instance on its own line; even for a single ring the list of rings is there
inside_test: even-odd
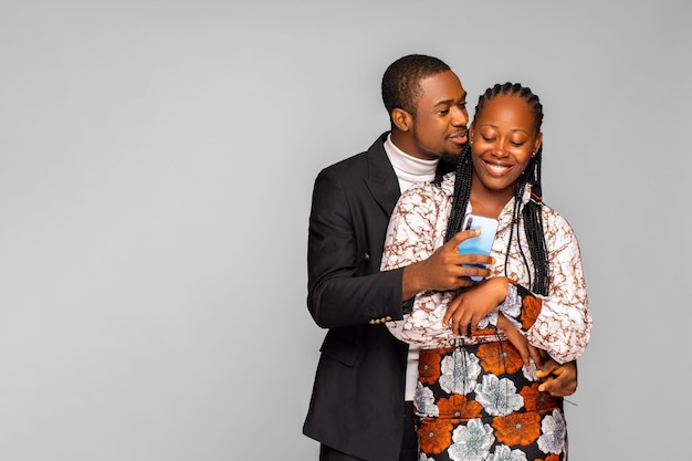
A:
[[[403,269],[402,300],[426,290],[447,291],[471,286],[472,275],[490,276],[485,268],[464,268],[462,264],[492,264],[493,258],[483,254],[459,254],[459,243],[478,237],[479,230],[458,232],[449,242],[437,249],[427,260],[415,262]]]

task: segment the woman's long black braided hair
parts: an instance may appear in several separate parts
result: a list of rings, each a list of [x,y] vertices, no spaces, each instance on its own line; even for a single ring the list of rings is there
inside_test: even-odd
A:
[[[532,111],[535,122],[536,133],[541,132],[541,125],[543,123],[543,105],[538,101],[538,96],[533,94],[530,88],[522,86],[518,83],[505,83],[496,84],[495,86],[487,88],[483,95],[479,97],[479,103],[475,106],[475,117],[483,111],[487,101],[494,98],[497,95],[503,96],[517,96],[524,99]],[[522,172],[514,191],[514,211],[512,214],[512,227],[510,231],[510,241],[507,243],[505,254],[505,273],[507,271],[507,260],[510,256],[510,248],[512,247],[512,237],[514,232],[518,234],[520,223],[520,210],[522,210],[522,197],[526,185],[531,186],[531,199],[524,205],[522,218],[524,221],[524,232],[526,234],[526,241],[528,242],[528,250],[534,263],[534,280],[531,281],[531,270],[528,271],[530,286],[534,293],[546,295],[549,287],[549,265],[548,254],[545,243],[545,233],[543,230],[543,216],[541,208],[543,206],[543,198],[541,191],[541,158],[543,153],[543,144],[538,148],[535,157],[532,157],[526,166],[526,169]],[[466,206],[469,203],[469,197],[471,195],[471,180],[473,175],[473,164],[471,160],[471,148],[466,144],[459,156],[455,169],[454,180],[454,195],[452,198],[452,211],[450,214],[449,223],[447,227],[447,234],[444,241],[449,241],[457,232],[461,231],[461,223],[466,212]],[[524,249],[521,247],[520,252],[524,259],[524,264],[530,268]]]

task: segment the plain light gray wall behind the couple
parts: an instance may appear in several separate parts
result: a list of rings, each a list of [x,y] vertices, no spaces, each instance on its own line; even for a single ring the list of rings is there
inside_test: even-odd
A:
[[[447,61],[471,112],[505,81],[544,104],[544,196],[595,322],[570,460],[680,459],[691,12],[1,1],[0,459],[316,460],[313,180],[388,129],[381,74],[408,53]]]

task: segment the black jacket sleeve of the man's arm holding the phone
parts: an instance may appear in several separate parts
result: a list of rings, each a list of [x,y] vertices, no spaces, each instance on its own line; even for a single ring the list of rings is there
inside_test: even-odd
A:
[[[346,186],[343,175],[327,169],[313,189],[307,307],[325,328],[379,324],[403,315],[402,269],[379,272],[388,216],[358,195],[365,185]],[[381,216],[368,216],[368,207]],[[379,245],[374,256],[368,258],[368,245]]]

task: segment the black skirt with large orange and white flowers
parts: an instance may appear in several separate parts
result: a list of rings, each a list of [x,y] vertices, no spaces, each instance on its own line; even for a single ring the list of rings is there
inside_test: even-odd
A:
[[[421,349],[418,371],[421,460],[558,461],[566,455],[563,399],[538,391],[535,368],[523,366],[510,342],[460,338],[454,347]]]

